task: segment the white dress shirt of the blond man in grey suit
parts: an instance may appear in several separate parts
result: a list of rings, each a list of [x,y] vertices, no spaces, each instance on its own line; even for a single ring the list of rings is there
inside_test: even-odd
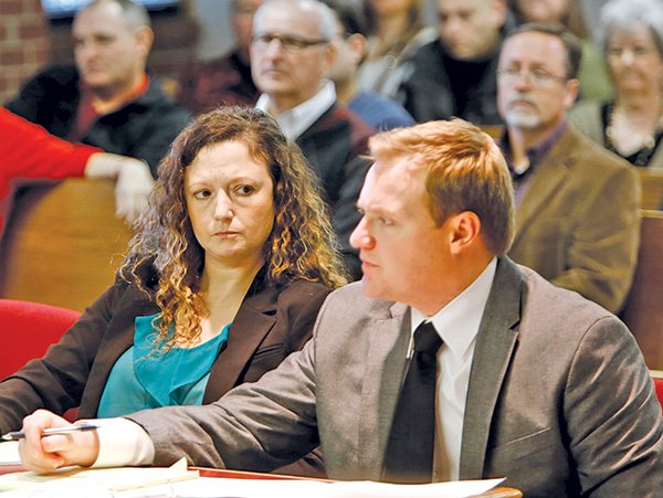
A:
[[[459,478],[463,417],[474,345],[496,267],[497,259],[493,258],[465,290],[432,317],[412,308],[412,335],[422,321],[432,321],[443,341],[438,351],[433,481]]]

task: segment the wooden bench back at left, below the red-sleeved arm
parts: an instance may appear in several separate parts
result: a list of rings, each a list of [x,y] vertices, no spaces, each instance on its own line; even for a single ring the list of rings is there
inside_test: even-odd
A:
[[[82,311],[115,279],[133,231],[115,218],[114,182],[32,184],[0,246],[0,297]]]

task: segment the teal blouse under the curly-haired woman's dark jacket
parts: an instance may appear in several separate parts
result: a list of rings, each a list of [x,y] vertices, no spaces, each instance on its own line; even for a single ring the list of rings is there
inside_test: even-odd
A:
[[[231,324],[221,333],[194,348],[155,350],[154,320],[136,317],[134,346],[113,365],[99,401],[98,417],[122,416],[144,409],[199,405],[210,370],[228,341]]]

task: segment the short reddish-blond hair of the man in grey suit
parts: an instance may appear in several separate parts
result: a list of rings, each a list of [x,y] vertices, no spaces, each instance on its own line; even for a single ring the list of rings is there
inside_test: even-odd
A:
[[[427,202],[438,225],[474,212],[488,251],[501,255],[514,236],[514,195],[504,156],[490,135],[462,119],[397,128],[369,140],[373,158],[411,156],[428,170]]]

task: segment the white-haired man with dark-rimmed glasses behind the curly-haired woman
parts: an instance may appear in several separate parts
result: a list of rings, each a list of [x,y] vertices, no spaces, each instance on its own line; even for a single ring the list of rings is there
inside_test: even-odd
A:
[[[319,1],[267,0],[253,20],[251,73],[262,92],[256,107],[277,119],[320,179],[344,259],[359,278],[349,236],[360,218],[356,202],[368,167],[361,155],[375,130],[337,102],[326,80],[335,36],[334,12]]]

